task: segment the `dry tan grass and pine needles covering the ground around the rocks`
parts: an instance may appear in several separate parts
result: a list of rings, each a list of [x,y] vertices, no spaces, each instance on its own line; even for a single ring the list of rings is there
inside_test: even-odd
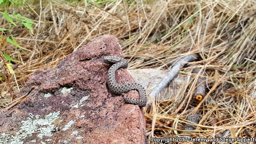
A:
[[[106,1],[107,2],[107,1]],[[147,136],[200,138],[255,137],[256,2],[217,0],[26,1],[4,10],[38,24],[32,35],[18,26],[11,31],[24,52],[5,44],[4,52],[21,61],[15,69],[19,87],[38,69],[52,68],[91,39],[111,34],[120,40],[129,69],[166,69],[181,56],[197,53],[207,81],[207,95],[197,103],[190,68],[181,69],[186,84],[170,100],[156,102],[146,113]],[[1,19],[0,25],[4,25]],[[9,36],[9,33],[5,33]],[[12,80],[14,92],[18,92]],[[0,84],[1,104],[10,102],[7,83]],[[190,112],[190,108],[195,108]],[[199,124],[186,117],[200,112]],[[252,124],[254,123],[254,124]],[[184,131],[186,124],[194,131]]]

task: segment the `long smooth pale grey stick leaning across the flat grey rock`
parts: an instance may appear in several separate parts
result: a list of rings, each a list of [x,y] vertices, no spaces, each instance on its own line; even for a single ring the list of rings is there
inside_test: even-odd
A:
[[[180,60],[177,60],[177,62],[173,65],[173,67],[171,68],[171,70],[168,72],[168,74],[161,80],[161,82],[159,82],[155,89],[153,89],[153,91],[150,92],[150,96],[151,98],[154,100],[154,97],[156,97],[156,95],[161,92],[164,87],[172,81],[172,79],[179,73],[179,69],[183,68],[185,66],[185,64],[187,62],[190,61],[194,61],[196,59],[198,59],[199,55],[197,54],[191,54],[191,55],[187,55],[183,58],[181,58]],[[151,105],[151,101],[148,100],[147,101],[147,105],[150,106]]]

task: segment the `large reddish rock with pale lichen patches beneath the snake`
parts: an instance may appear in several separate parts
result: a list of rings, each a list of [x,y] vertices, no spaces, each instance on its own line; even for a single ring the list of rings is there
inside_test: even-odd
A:
[[[143,109],[108,93],[104,56],[122,57],[118,40],[105,35],[71,53],[56,68],[39,70],[19,93],[25,100],[0,111],[0,144],[148,143]],[[118,83],[134,82],[124,69]],[[129,97],[139,98],[137,91]]]

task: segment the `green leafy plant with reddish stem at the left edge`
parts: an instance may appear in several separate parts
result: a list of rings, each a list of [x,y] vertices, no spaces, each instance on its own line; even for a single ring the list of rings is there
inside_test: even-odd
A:
[[[6,3],[14,4],[11,0],[0,0],[0,5]],[[10,88],[10,101],[12,102],[12,77],[15,76],[12,64],[19,63],[20,61],[12,59],[5,53],[4,45],[5,43],[10,43],[25,52],[25,49],[13,37],[12,28],[23,25],[34,35],[32,25],[36,23],[27,17],[21,16],[19,13],[8,13],[7,11],[0,11],[0,19],[2,20],[2,25],[0,25],[0,84],[7,83]],[[2,96],[2,90],[0,90],[0,95]]]

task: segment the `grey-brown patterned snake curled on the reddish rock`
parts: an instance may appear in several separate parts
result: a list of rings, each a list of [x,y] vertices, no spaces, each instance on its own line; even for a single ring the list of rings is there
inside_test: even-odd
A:
[[[106,64],[112,64],[107,73],[107,84],[109,92],[114,95],[124,96],[124,102],[128,104],[145,107],[147,104],[147,94],[145,88],[141,84],[135,82],[119,84],[116,82],[116,71],[119,68],[127,68],[128,61],[117,56],[104,56],[103,62]],[[135,99],[127,97],[126,93],[131,90],[137,90],[139,92],[140,98]]]

